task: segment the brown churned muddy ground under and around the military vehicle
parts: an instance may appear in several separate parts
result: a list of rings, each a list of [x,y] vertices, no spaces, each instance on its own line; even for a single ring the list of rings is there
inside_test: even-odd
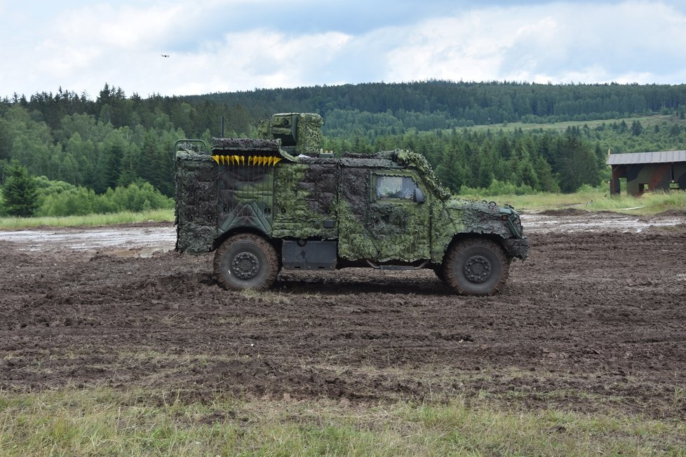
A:
[[[514,262],[504,293],[486,298],[455,296],[429,270],[356,268],[282,272],[273,292],[227,292],[215,285],[211,254],[163,252],[173,247],[170,225],[102,229],[159,230],[159,249],[58,241],[90,233],[74,229],[5,233],[0,390],[107,385],[189,400],[342,402],[462,395],[686,418],[686,214],[640,227],[618,220],[525,217],[530,259]],[[560,229],[572,221],[592,228]]]

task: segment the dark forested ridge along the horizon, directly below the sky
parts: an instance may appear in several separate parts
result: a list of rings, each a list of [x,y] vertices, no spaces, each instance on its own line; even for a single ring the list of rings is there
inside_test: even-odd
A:
[[[152,128],[159,115],[191,137],[206,130],[220,134],[224,116],[227,132],[244,135],[256,119],[276,112],[315,112],[328,119],[325,133],[335,136],[345,125],[332,121],[340,112],[389,114],[398,128],[437,128],[502,123],[592,121],[653,113],[686,113],[686,84],[538,84],[515,82],[422,81],[363,83],[342,86],[255,89],[234,93],[163,97],[130,97],[121,88],[105,86],[91,100],[59,88],[57,93],[14,94],[0,100],[0,114],[13,104],[37,112],[53,130],[62,118],[88,114],[114,128]],[[396,131],[394,133],[401,133]]]

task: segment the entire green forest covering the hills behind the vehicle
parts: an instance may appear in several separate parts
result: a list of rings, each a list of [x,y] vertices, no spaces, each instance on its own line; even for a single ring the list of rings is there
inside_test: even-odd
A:
[[[607,154],[686,148],[686,85],[423,81],[141,97],[105,84],[94,99],[58,88],[0,100],[0,213],[171,207],[177,139],[220,136],[222,118],[224,136],[255,136],[257,121],[285,111],[321,114],[323,148],[336,154],[413,149],[453,193],[572,192],[608,178]],[[6,200],[22,180],[35,192],[20,214]]]

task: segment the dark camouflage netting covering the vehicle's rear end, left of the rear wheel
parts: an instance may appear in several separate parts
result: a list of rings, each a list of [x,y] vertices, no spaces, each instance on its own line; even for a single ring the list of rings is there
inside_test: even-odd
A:
[[[176,154],[176,249],[199,254],[217,236],[217,163],[208,154]]]

